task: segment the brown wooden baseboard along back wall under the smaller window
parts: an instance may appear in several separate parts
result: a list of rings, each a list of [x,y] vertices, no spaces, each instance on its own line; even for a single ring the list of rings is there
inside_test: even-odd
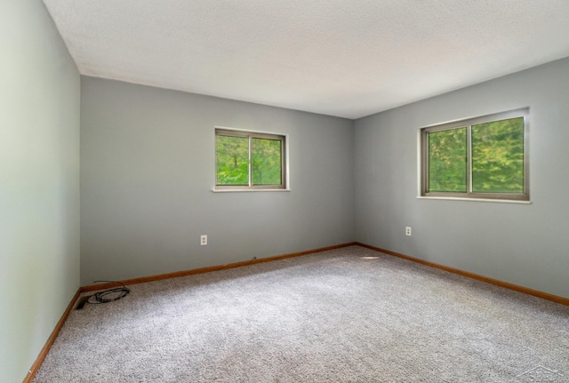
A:
[[[123,281],[117,281],[117,282],[124,283],[125,285],[128,285],[128,284],[137,284],[137,283],[147,283],[147,282],[162,281],[162,280],[164,280],[164,279],[178,278],[178,277],[180,277],[180,276],[188,276],[188,275],[196,275],[196,274],[210,273],[210,272],[212,272],[212,271],[227,270],[228,268],[250,266],[250,265],[255,265],[255,264],[257,264],[257,263],[272,262],[272,261],[274,261],[274,260],[281,260],[281,259],[287,259],[287,258],[293,258],[293,257],[300,257],[301,255],[314,254],[314,253],[322,252],[322,251],[329,251],[329,250],[341,249],[342,247],[353,246],[353,245],[355,245],[355,244],[356,244],[355,242],[341,243],[341,244],[335,244],[335,245],[333,245],[333,246],[320,247],[320,248],[318,248],[318,249],[313,249],[313,250],[298,251],[298,252],[292,252],[292,253],[284,254],[284,255],[277,255],[277,256],[275,256],[275,257],[242,260],[242,261],[240,261],[240,262],[227,263],[227,264],[225,264],[225,265],[216,265],[216,266],[209,266],[209,267],[200,267],[200,268],[193,268],[193,269],[190,269],[190,270],[176,271],[176,272],[173,272],[173,273],[142,276],[142,277],[140,277],[140,278],[125,279],[125,280],[123,280]],[[109,289],[109,288],[111,288],[111,287],[116,287],[116,283],[90,284],[90,285],[86,285],[86,286],[81,287],[80,290],[81,290],[81,292],[98,291],[98,290]]]

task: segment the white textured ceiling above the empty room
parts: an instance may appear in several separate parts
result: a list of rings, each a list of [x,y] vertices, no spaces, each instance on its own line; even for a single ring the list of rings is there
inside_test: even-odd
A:
[[[357,118],[569,56],[567,0],[44,0],[82,75]]]

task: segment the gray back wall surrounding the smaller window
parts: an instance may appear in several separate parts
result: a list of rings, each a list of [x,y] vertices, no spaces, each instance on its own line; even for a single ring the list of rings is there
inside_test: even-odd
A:
[[[288,134],[292,191],[213,193],[216,125]],[[82,77],[81,283],[353,241],[353,158],[347,119]]]

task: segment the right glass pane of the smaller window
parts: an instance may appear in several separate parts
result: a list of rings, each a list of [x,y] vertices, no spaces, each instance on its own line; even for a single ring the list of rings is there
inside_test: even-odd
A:
[[[252,139],[252,184],[281,185],[281,140]]]

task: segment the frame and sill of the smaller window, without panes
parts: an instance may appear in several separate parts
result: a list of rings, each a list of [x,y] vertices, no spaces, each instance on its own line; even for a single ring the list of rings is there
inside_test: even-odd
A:
[[[249,139],[249,185],[217,185],[217,136],[246,137]],[[281,141],[281,184],[252,185],[252,139],[268,139]],[[213,148],[215,154],[214,192],[243,191],[290,191],[288,163],[288,135],[275,132],[244,131],[242,129],[215,126]]]

